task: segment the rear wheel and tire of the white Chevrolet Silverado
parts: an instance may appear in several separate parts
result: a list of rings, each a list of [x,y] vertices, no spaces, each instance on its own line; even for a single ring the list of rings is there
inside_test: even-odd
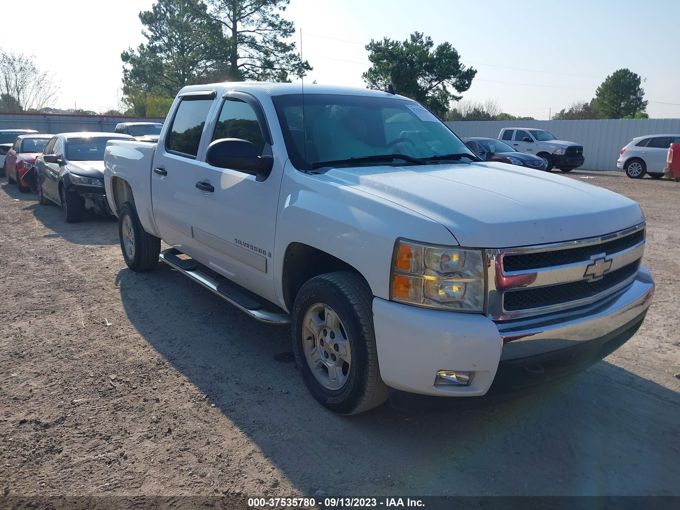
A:
[[[160,239],[141,226],[133,202],[126,202],[120,207],[118,239],[125,263],[133,271],[149,271],[158,265]]]

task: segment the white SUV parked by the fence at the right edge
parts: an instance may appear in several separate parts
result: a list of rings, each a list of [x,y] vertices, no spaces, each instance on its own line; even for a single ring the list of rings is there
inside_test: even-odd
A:
[[[666,157],[671,143],[680,143],[680,135],[647,135],[632,139],[621,150],[616,167],[624,170],[631,179],[640,179],[649,173],[660,179],[664,176]]]

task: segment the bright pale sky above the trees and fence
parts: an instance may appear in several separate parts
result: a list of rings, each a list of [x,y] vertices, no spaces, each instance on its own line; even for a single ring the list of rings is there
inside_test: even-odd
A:
[[[137,14],[152,3],[63,0],[55,8],[54,0],[31,0],[24,7],[37,16],[5,18],[0,45],[34,52],[39,67],[56,73],[57,107],[117,108],[120,52],[144,40]],[[510,114],[548,118],[590,100],[607,74],[628,67],[647,78],[649,116],[680,117],[678,0],[290,0],[284,17],[303,32],[303,57],[314,67],[309,82],[364,87],[362,45],[417,30],[435,44],[449,41],[477,69],[466,99],[496,99]]]

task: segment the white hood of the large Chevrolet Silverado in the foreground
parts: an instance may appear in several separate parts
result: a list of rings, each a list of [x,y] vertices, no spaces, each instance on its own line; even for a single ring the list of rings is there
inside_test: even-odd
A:
[[[335,168],[318,177],[403,205],[477,248],[571,241],[645,220],[620,194],[505,163]]]

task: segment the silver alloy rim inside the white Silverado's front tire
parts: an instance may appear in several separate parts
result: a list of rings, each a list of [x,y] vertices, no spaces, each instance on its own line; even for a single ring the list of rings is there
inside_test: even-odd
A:
[[[309,369],[328,390],[339,390],[347,382],[352,349],[347,328],[338,314],[324,303],[307,309],[303,320],[303,350]]]

